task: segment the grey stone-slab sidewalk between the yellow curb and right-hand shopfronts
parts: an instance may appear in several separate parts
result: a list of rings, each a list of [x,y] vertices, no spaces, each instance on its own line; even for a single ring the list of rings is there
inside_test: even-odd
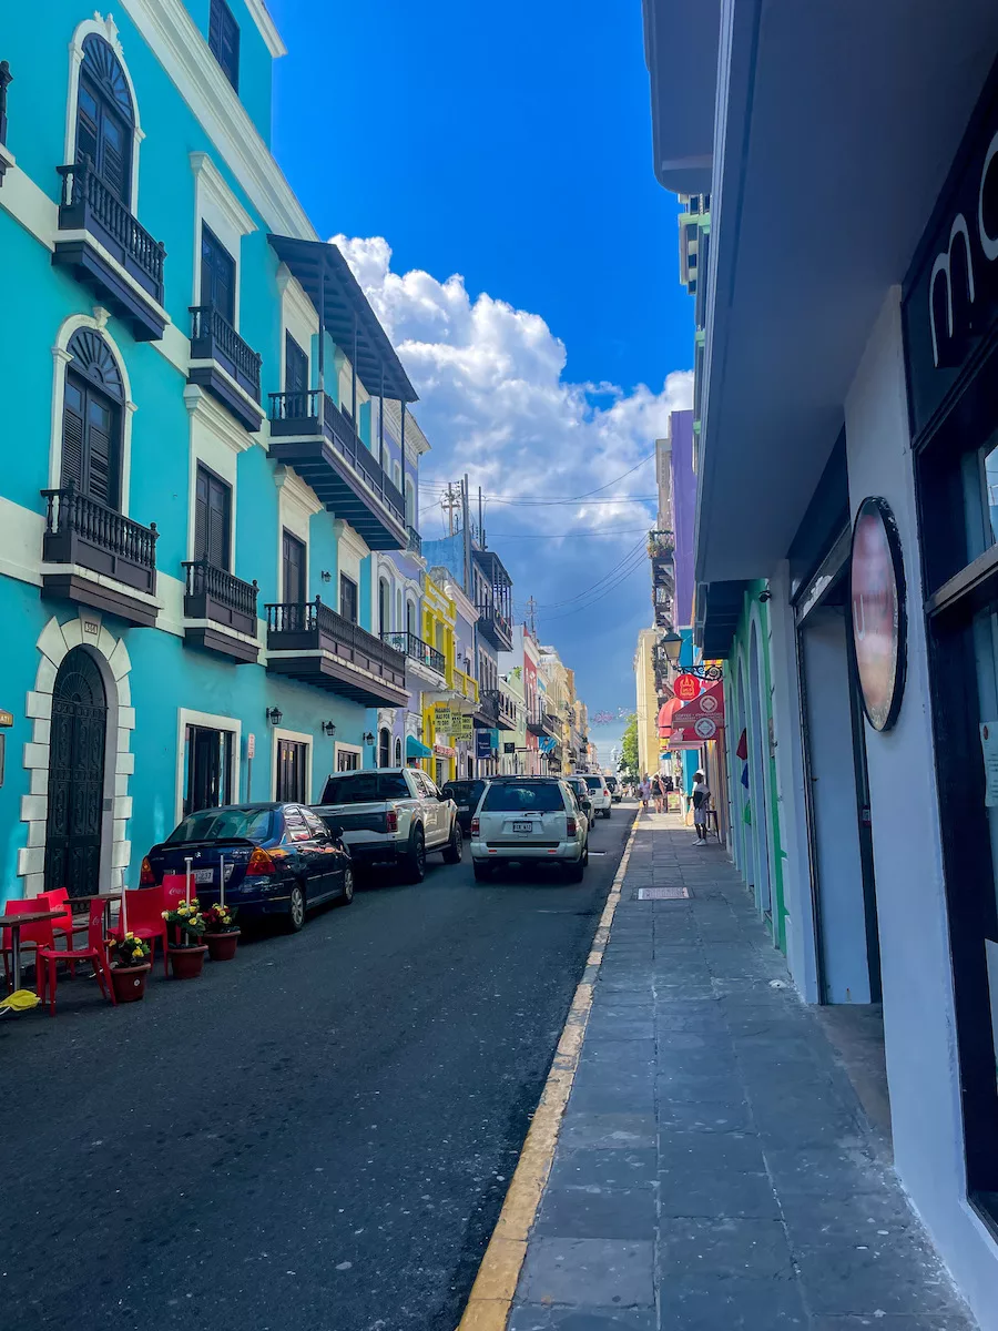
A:
[[[973,1331],[727,856],[645,815],[510,1331],[866,1326]]]

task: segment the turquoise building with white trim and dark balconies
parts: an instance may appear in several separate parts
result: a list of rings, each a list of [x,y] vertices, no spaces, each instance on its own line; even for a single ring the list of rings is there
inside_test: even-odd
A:
[[[410,703],[415,393],[270,156],[282,52],[261,0],[0,20],[8,896],[134,885]]]

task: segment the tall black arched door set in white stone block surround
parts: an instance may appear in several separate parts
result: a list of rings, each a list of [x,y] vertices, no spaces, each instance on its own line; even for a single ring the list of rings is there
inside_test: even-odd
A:
[[[52,695],[45,890],[71,897],[100,892],[104,745],[108,699],[97,664],[75,647],[59,667]]]

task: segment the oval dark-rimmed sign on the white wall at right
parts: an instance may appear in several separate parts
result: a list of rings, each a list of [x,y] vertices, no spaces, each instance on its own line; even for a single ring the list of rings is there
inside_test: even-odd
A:
[[[849,599],[866,720],[888,731],[905,692],[906,598],[901,539],[885,499],[864,499],[856,514]]]

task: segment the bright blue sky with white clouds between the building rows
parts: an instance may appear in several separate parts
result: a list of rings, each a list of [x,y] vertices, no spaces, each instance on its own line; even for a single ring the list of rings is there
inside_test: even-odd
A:
[[[692,363],[692,311],[676,204],[651,166],[640,0],[270,8],[289,48],[275,69],[275,154],[322,236],[387,242],[351,262],[420,389],[430,486],[470,467],[496,496],[570,498],[649,454],[664,410],[688,391],[663,385]],[[442,385],[448,345],[460,374]],[[483,365],[502,378],[460,419]],[[502,403],[491,421],[486,397]],[[652,490],[648,465],[601,496]],[[432,502],[430,488],[424,515]],[[599,602],[579,594],[651,512],[490,504],[518,600],[532,592],[550,607],[542,636],[576,667],[593,711],[633,701],[647,566],[611,579]],[[591,527],[609,535],[546,539]]]

